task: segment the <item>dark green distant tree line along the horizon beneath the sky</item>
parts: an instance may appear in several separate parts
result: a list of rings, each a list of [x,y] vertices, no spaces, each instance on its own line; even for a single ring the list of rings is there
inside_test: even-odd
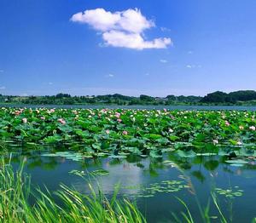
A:
[[[175,96],[152,97],[142,94],[139,97],[123,94],[71,96],[70,94],[56,94],[45,96],[14,96],[0,94],[0,103],[32,104],[32,105],[256,105],[256,91],[240,90],[229,94],[216,91],[201,96]]]

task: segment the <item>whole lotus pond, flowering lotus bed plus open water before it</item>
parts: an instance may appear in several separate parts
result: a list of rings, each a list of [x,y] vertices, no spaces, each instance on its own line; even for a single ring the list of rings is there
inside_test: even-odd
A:
[[[42,190],[63,183],[90,194],[85,180],[111,198],[119,186],[148,222],[252,222],[255,115],[2,108],[1,154],[15,169],[25,162]]]

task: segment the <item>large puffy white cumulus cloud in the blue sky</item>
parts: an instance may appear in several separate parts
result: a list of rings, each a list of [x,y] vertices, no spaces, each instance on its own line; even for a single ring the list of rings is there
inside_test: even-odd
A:
[[[105,45],[129,49],[165,49],[172,41],[168,37],[146,40],[143,31],[154,27],[139,9],[108,12],[105,9],[90,9],[73,14],[71,20],[88,24],[101,31]]]

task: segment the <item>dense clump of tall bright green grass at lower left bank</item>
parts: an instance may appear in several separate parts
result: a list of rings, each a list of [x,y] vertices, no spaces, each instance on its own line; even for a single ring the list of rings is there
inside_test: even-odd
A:
[[[118,201],[116,193],[111,200],[95,192],[90,186],[90,195],[61,185],[55,192],[38,189],[32,195],[29,176],[23,174],[23,165],[14,171],[9,163],[0,166],[0,221],[1,222],[146,222],[137,206],[126,199]],[[29,198],[35,199],[34,204]]]

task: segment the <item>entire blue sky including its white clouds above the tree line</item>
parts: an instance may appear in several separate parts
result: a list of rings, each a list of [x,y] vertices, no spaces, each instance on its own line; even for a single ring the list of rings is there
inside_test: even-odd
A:
[[[256,89],[256,1],[1,0],[0,94]]]

